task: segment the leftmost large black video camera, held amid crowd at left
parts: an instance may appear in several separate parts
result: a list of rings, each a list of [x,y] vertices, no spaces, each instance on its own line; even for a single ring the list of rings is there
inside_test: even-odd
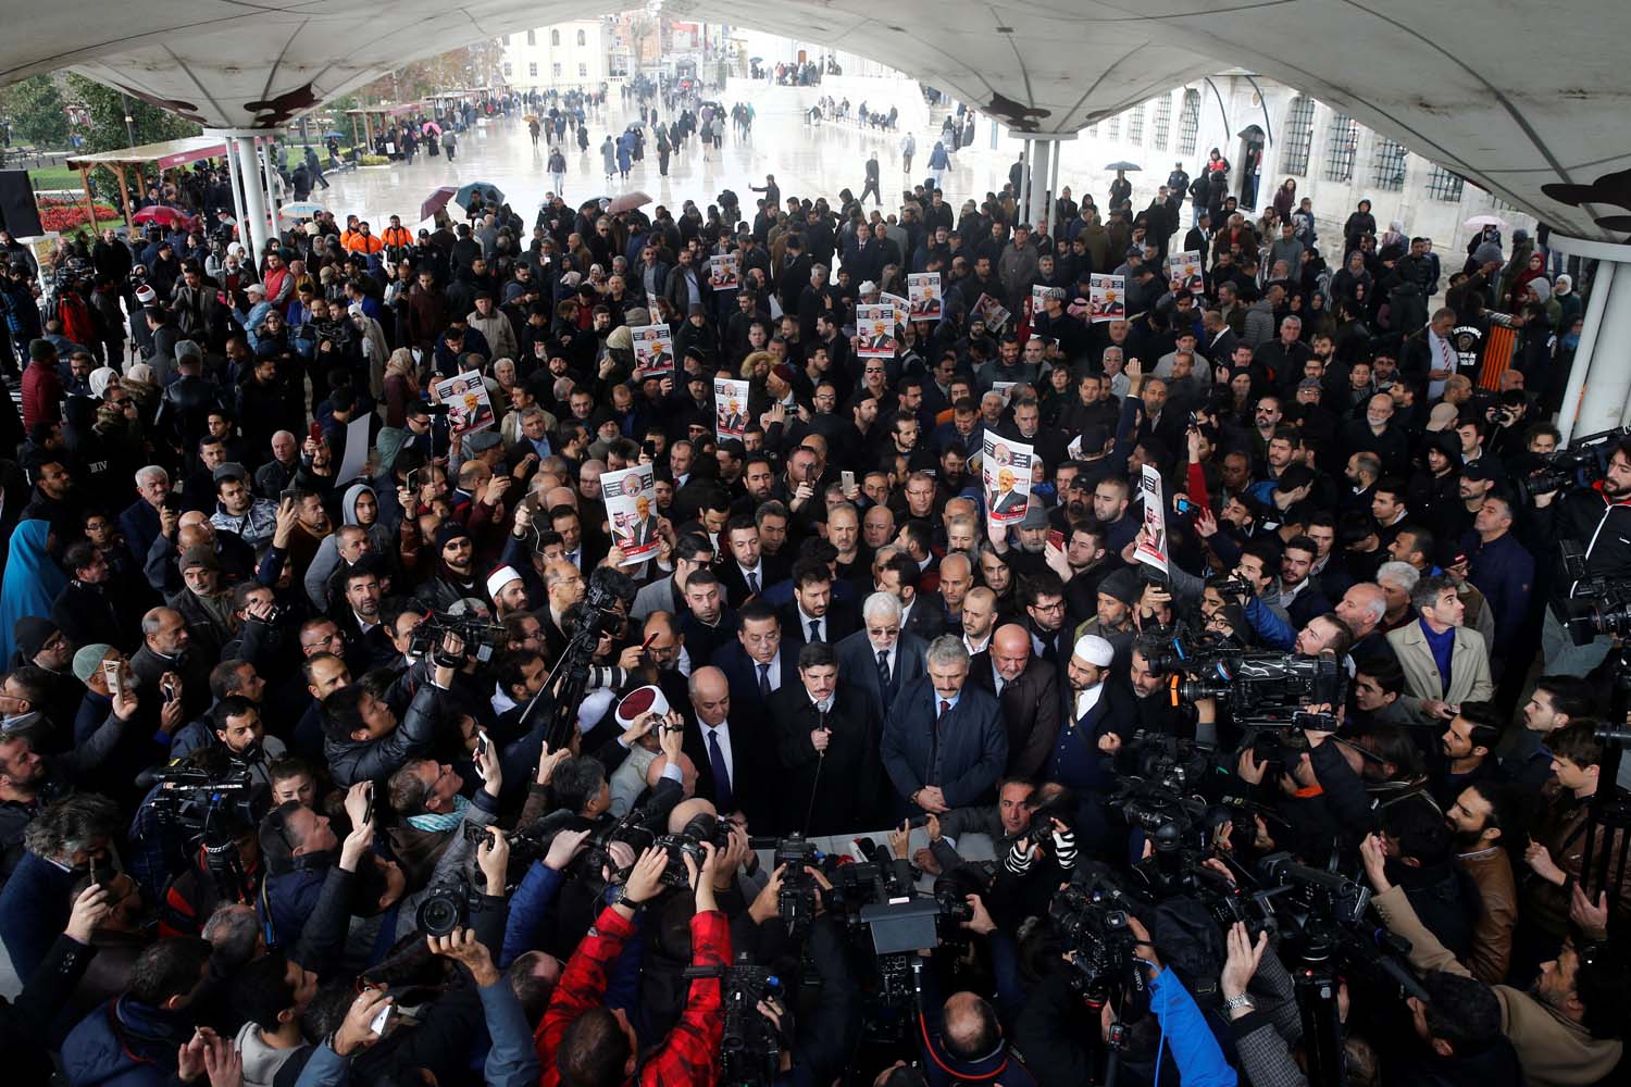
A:
[[[243,763],[220,756],[209,766],[166,766],[137,777],[158,786],[148,803],[160,826],[179,831],[204,854],[204,864],[225,901],[248,898],[253,885],[238,860],[238,836],[259,826],[271,810],[271,794]]]

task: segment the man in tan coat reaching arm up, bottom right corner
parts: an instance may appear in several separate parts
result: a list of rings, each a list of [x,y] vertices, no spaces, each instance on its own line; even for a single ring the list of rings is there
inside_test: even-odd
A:
[[[1443,948],[1416,918],[1403,888],[1386,874],[1386,844],[1375,834],[1360,844],[1365,875],[1375,888],[1372,904],[1381,922],[1411,945],[1417,970],[1443,970],[1470,976],[1466,966]],[[1597,1084],[1620,1064],[1631,970],[1607,942],[1566,944],[1558,958],[1543,963],[1540,981],[1528,992],[1491,986],[1501,1004],[1501,1033],[1517,1051],[1523,1072],[1535,1082]]]

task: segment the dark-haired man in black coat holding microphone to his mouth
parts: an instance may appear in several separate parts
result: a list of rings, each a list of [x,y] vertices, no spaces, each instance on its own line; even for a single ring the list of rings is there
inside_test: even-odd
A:
[[[798,681],[770,699],[781,769],[776,833],[845,834],[894,813],[884,790],[882,722],[871,699],[838,678],[838,654],[811,642],[799,650]],[[763,833],[763,831],[758,831]]]

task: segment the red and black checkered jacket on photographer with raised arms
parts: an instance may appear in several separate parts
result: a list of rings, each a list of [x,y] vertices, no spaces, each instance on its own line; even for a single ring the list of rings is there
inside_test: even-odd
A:
[[[555,1050],[561,1035],[592,1007],[600,1007],[607,989],[607,963],[618,957],[634,926],[612,906],[600,911],[589,935],[572,952],[566,973],[555,986],[550,1007],[538,1023],[533,1041],[543,1076],[538,1087],[559,1087],[561,1072]],[[731,926],[718,909],[692,918],[692,965],[726,966],[731,962]],[[639,1066],[639,1087],[713,1087],[719,1079],[719,1038],[724,1017],[719,1014],[719,979],[692,981],[680,1022]]]

